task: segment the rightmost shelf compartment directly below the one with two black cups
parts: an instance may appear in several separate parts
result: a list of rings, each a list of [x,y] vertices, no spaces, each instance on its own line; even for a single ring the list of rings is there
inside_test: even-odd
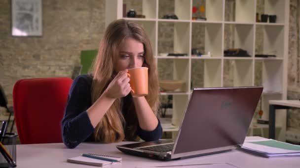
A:
[[[275,55],[284,57],[284,26],[257,25],[256,26],[256,54]],[[262,46],[260,48],[259,46]]]

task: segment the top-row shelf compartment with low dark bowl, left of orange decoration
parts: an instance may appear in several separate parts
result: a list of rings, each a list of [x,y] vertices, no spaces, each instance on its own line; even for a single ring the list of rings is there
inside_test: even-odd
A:
[[[179,20],[190,20],[190,0],[158,1],[158,19],[161,19],[164,15],[175,14]]]

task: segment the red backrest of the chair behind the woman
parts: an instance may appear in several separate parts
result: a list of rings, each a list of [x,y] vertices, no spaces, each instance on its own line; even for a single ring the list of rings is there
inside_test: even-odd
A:
[[[21,144],[62,142],[60,122],[71,78],[23,79],[13,88],[13,107]]]

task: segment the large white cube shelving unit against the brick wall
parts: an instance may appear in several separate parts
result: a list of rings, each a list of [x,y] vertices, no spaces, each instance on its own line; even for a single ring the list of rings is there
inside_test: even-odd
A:
[[[140,0],[132,0],[140,1]],[[225,19],[228,10],[227,0],[173,0],[174,12],[178,20],[161,19],[159,3],[162,0],[142,0],[142,14],[146,18],[124,18],[141,24],[147,31],[153,47],[157,64],[165,59],[173,62],[173,78],[185,80],[186,84],[179,92],[161,93],[173,95],[172,124],[179,126],[190,96],[191,70],[197,61],[203,61],[203,87],[222,87],[225,84],[225,61],[231,62],[232,83],[229,86],[253,86],[255,74],[261,74],[264,91],[262,95],[263,118],[268,119],[268,100],[286,99],[287,97],[287,59],[288,59],[288,28],[289,28],[289,0],[264,0],[264,13],[277,15],[276,23],[257,23],[257,3],[260,0],[235,0],[233,20]],[[196,1],[205,2],[206,21],[192,20],[192,7]],[[127,11],[129,9],[127,8]],[[126,11],[126,12],[127,12]],[[230,11],[229,11],[230,12]],[[231,14],[232,14],[231,12]],[[166,13],[168,14],[168,13]],[[115,19],[123,18],[123,0],[106,0],[106,25]],[[161,37],[158,35],[161,28],[173,27],[173,53],[186,53],[188,56],[159,56],[160,53],[170,53],[159,49]],[[227,29],[230,27],[230,29]],[[204,51],[209,51],[211,57],[191,56],[193,37],[198,28],[204,29]],[[257,29],[263,29],[263,53],[257,53],[255,46],[258,43]],[[226,36],[232,36],[232,48],[246,50],[250,57],[225,57],[224,50]],[[226,40],[226,41],[225,41]],[[231,41],[230,41],[231,42]],[[255,54],[273,54],[276,57],[255,57]],[[255,64],[262,62],[262,71],[257,71]],[[159,72],[162,73],[162,72]],[[285,140],[286,112],[276,113],[276,125],[282,130],[279,140]],[[172,129],[174,131],[176,129]],[[165,130],[166,131],[166,130]]]

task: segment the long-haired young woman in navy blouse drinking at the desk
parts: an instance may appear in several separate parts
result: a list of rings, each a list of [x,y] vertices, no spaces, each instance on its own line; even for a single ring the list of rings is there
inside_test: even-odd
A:
[[[132,97],[129,68],[148,67],[149,94]],[[100,42],[90,75],[78,76],[70,89],[62,119],[65,145],[161,138],[156,117],[159,88],[150,40],[144,29],[123,19],[112,22]]]

